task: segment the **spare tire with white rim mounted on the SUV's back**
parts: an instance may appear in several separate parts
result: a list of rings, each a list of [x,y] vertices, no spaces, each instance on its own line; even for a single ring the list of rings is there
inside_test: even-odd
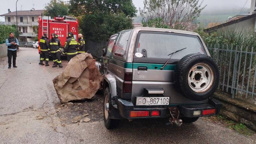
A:
[[[195,101],[210,98],[219,84],[219,69],[205,54],[184,56],[174,70],[174,85],[185,97]]]

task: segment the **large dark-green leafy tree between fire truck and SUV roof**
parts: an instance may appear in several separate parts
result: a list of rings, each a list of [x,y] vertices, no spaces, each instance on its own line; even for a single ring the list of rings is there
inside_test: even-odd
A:
[[[137,10],[132,0],[70,0],[69,13],[78,17],[86,39],[106,41],[116,32],[132,28]]]

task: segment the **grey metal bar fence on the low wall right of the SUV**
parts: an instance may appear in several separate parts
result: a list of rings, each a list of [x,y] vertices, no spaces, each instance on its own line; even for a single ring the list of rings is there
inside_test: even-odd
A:
[[[218,89],[232,98],[256,104],[256,52],[253,47],[208,45],[208,50],[219,66]]]

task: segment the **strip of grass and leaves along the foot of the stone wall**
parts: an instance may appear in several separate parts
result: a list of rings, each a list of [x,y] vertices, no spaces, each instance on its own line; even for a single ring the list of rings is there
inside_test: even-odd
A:
[[[246,125],[243,123],[236,123],[232,120],[228,120],[227,117],[221,116],[221,115],[216,115],[216,116],[211,116],[211,117],[204,117],[207,120],[211,120],[214,123],[219,123],[221,125],[224,125],[225,127],[237,131],[238,133],[241,133],[243,135],[247,136],[252,136],[256,134],[253,130],[247,128]]]

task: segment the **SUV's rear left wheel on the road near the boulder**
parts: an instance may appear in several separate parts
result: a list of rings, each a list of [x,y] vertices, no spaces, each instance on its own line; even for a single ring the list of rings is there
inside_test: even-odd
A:
[[[109,90],[109,87],[106,87],[104,91],[103,115],[104,115],[105,127],[107,129],[114,128],[118,124],[118,120],[109,118],[109,110],[112,109],[112,105],[111,105],[111,101],[109,100],[109,97],[110,97],[110,90]]]

